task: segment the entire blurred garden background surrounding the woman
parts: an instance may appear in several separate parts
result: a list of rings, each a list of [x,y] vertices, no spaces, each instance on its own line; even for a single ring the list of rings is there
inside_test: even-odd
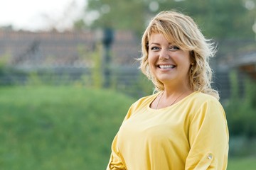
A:
[[[218,45],[228,169],[256,169],[256,0],[1,1],[1,169],[105,169],[129,106],[152,94],[142,33],[174,8]]]

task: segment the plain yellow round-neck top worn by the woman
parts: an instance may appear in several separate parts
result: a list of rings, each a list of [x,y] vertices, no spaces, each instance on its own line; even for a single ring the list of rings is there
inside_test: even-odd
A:
[[[193,92],[155,110],[149,105],[157,95],[129,108],[112,142],[107,169],[226,169],[228,126],[219,101]]]

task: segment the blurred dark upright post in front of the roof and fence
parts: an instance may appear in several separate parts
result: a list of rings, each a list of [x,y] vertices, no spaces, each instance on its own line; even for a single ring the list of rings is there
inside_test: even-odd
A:
[[[103,29],[103,37],[102,37],[102,44],[103,44],[103,61],[102,61],[102,68],[103,68],[103,75],[104,75],[104,87],[110,87],[110,77],[111,77],[111,56],[110,56],[110,49],[112,42],[114,40],[114,31],[112,28],[104,28]]]

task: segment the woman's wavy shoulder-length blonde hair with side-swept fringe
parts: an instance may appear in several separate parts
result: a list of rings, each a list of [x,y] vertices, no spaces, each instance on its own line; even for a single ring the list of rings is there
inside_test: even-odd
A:
[[[215,45],[203,36],[191,17],[177,11],[158,13],[151,19],[142,36],[142,57],[139,58],[141,63],[139,68],[153,82],[155,91],[164,91],[164,84],[156,79],[149,69],[149,38],[153,33],[161,33],[182,50],[188,50],[193,61],[189,69],[191,89],[219,99],[218,91],[210,86],[212,69],[209,66],[209,57],[215,55]]]

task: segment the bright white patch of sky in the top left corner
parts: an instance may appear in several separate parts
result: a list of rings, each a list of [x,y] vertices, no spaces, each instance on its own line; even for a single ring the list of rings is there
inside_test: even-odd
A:
[[[0,2],[0,27],[14,30],[70,29],[82,16],[86,0],[4,0]]]

